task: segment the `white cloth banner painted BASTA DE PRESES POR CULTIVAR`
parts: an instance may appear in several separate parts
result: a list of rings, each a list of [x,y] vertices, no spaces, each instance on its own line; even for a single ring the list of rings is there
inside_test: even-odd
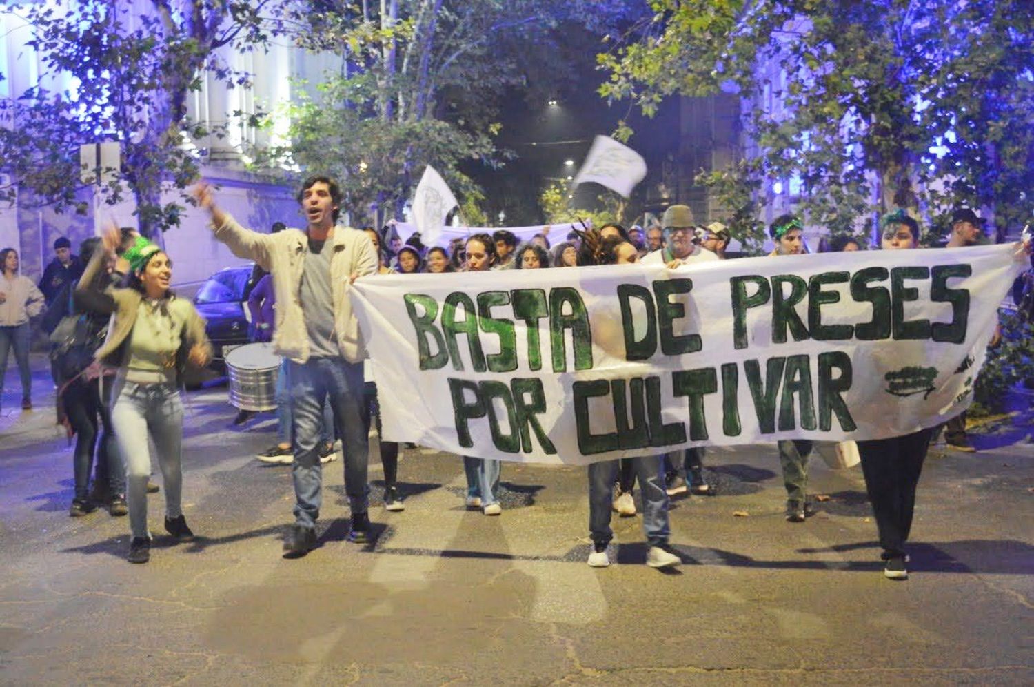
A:
[[[364,277],[385,438],[586,464],[871,439],[968,407],[1012,246]]]

